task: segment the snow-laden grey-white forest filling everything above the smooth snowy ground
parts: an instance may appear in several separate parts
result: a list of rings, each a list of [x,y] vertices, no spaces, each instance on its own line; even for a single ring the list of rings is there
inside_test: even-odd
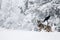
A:
[[[2,29],[60,32],[60,0],[0,0]]]

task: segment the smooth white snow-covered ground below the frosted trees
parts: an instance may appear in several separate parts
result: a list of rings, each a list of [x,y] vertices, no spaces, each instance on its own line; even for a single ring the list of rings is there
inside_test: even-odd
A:
[[[60,40],[60,33],[0,29],[0,40]]]

